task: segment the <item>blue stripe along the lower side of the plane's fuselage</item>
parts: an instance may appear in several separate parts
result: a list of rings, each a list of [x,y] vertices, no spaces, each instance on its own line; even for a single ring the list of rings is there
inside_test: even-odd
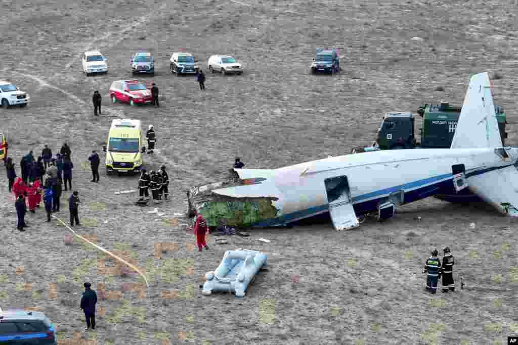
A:
[[[477,168],[473,171],[470,171],[466,174],[466,177],[481,175],[486,172],[490,172],[493,170],[499,170],[503,168],[507,168],[512,166],[513,164],[509,164],[507,166],[501,167],[492,167],[492,168]],[[446,179],[447,178],[447,179]],[[453,174],[442,174],[435,177],[428,177],[424,179],[420,179],[418,181],[409,182],[406,184],[402,184],[395,187],[384,188],[377,191],[369,192],[366,194],[362,194],[361,196],[357,196],[352,198],[354,212],[356,216],[361,216],[366,213],[375,211],[378,209],[378,203],[381,199],[386,198],[390,193],[397,192],[401,189],[405,190],[405,204],[418,201],[421,199],[425,199],[437,194],[441,189],[449,189],[452,184]],[[442,181],[441,181],[442,180]],[[436,183],[434,183],[436,182]],[[421,186],[421,187],[420,187]],[[419,187],[419,188],[416,188]],[[412,190],[408,190],[412,189]],[[407,191],[408,190],[408,191]],[[371,199],[374,198],[374,199]],[[370,200],[366,200],[370,199]],[[361,201],[365,200],[365,201]],[[274,227],[280,226],[283,224],[287,224],[299,219],[309,218],[316,215],[320,215],[322,213],[329,212],[329,205],[321,205],[310,207],[304,209],[302,211],[292,212],[290,214],[266,219],[257,223],[251,224],[252,227]]]

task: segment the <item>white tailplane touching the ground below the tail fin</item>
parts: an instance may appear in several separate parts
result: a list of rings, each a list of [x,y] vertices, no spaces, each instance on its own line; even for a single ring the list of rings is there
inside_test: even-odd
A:
[[[498,212],[518,217],[518,170],[509,166],[469,177],[469,189]]]

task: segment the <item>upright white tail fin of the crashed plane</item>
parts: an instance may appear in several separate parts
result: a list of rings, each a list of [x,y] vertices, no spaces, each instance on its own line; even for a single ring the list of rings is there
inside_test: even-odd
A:
[[[487,72],[471,77],[451,148],[502,147]]]

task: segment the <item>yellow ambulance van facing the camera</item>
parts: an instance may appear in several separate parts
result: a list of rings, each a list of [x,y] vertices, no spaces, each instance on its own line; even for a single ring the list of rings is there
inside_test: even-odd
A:
[[[142,167],[140,120],[114,119],[106,147],[106,173],[133,173]]]

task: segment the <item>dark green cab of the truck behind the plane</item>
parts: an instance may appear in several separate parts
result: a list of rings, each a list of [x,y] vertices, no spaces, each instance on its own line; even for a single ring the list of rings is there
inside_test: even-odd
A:
[[[414,117],[409,112],[386,113],[378,129],[380,149],[414,148]]]

